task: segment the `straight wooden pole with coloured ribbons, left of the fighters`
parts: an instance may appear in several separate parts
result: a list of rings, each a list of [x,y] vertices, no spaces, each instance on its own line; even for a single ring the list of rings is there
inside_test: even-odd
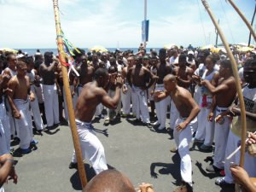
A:
[[[64,85],[66,99],[67,99],[67,110],[68,110],[68,116],[69,116],[69,124],[70,124],[72,137],[73,137],[73,145],[74,145],[77,160],[78,160],[79,176],[80,176],[82,187],[84,189],[84,187],[87,183],[87,178],[86,178],[86,174],[85,174],[85,170],[84,170],[82,152],[81,152],[80,143],[79,143],[79,135],[78,135],[77,127],[76,127],[76,123],[75,123],[72,96],[71,96],[69,82],[68,82],[67,67],[65,67],[62,64],[62,63],[66,62],[66,59],[65,59],[65,52],[63,49],[63,41],[62,41],[62,36],[61,36],[61,21],[60,21],[60,16],[59,16],[58,0],[53,0],[53,6],[54,6],[54,11],[55,11],[57,46],[58,46],[58,52],[59,52],[60,61],[61,61],[61,72],[62,72],[62,76],[63,76],[63,85]]]

